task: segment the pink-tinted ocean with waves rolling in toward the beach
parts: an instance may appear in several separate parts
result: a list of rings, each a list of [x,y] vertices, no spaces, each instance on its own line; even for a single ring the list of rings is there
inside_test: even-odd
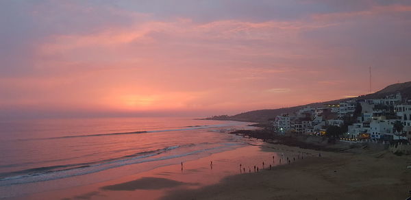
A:
[[[249,123],[192,118],[0,122],[0,198],[103,182],[244,147]]]

